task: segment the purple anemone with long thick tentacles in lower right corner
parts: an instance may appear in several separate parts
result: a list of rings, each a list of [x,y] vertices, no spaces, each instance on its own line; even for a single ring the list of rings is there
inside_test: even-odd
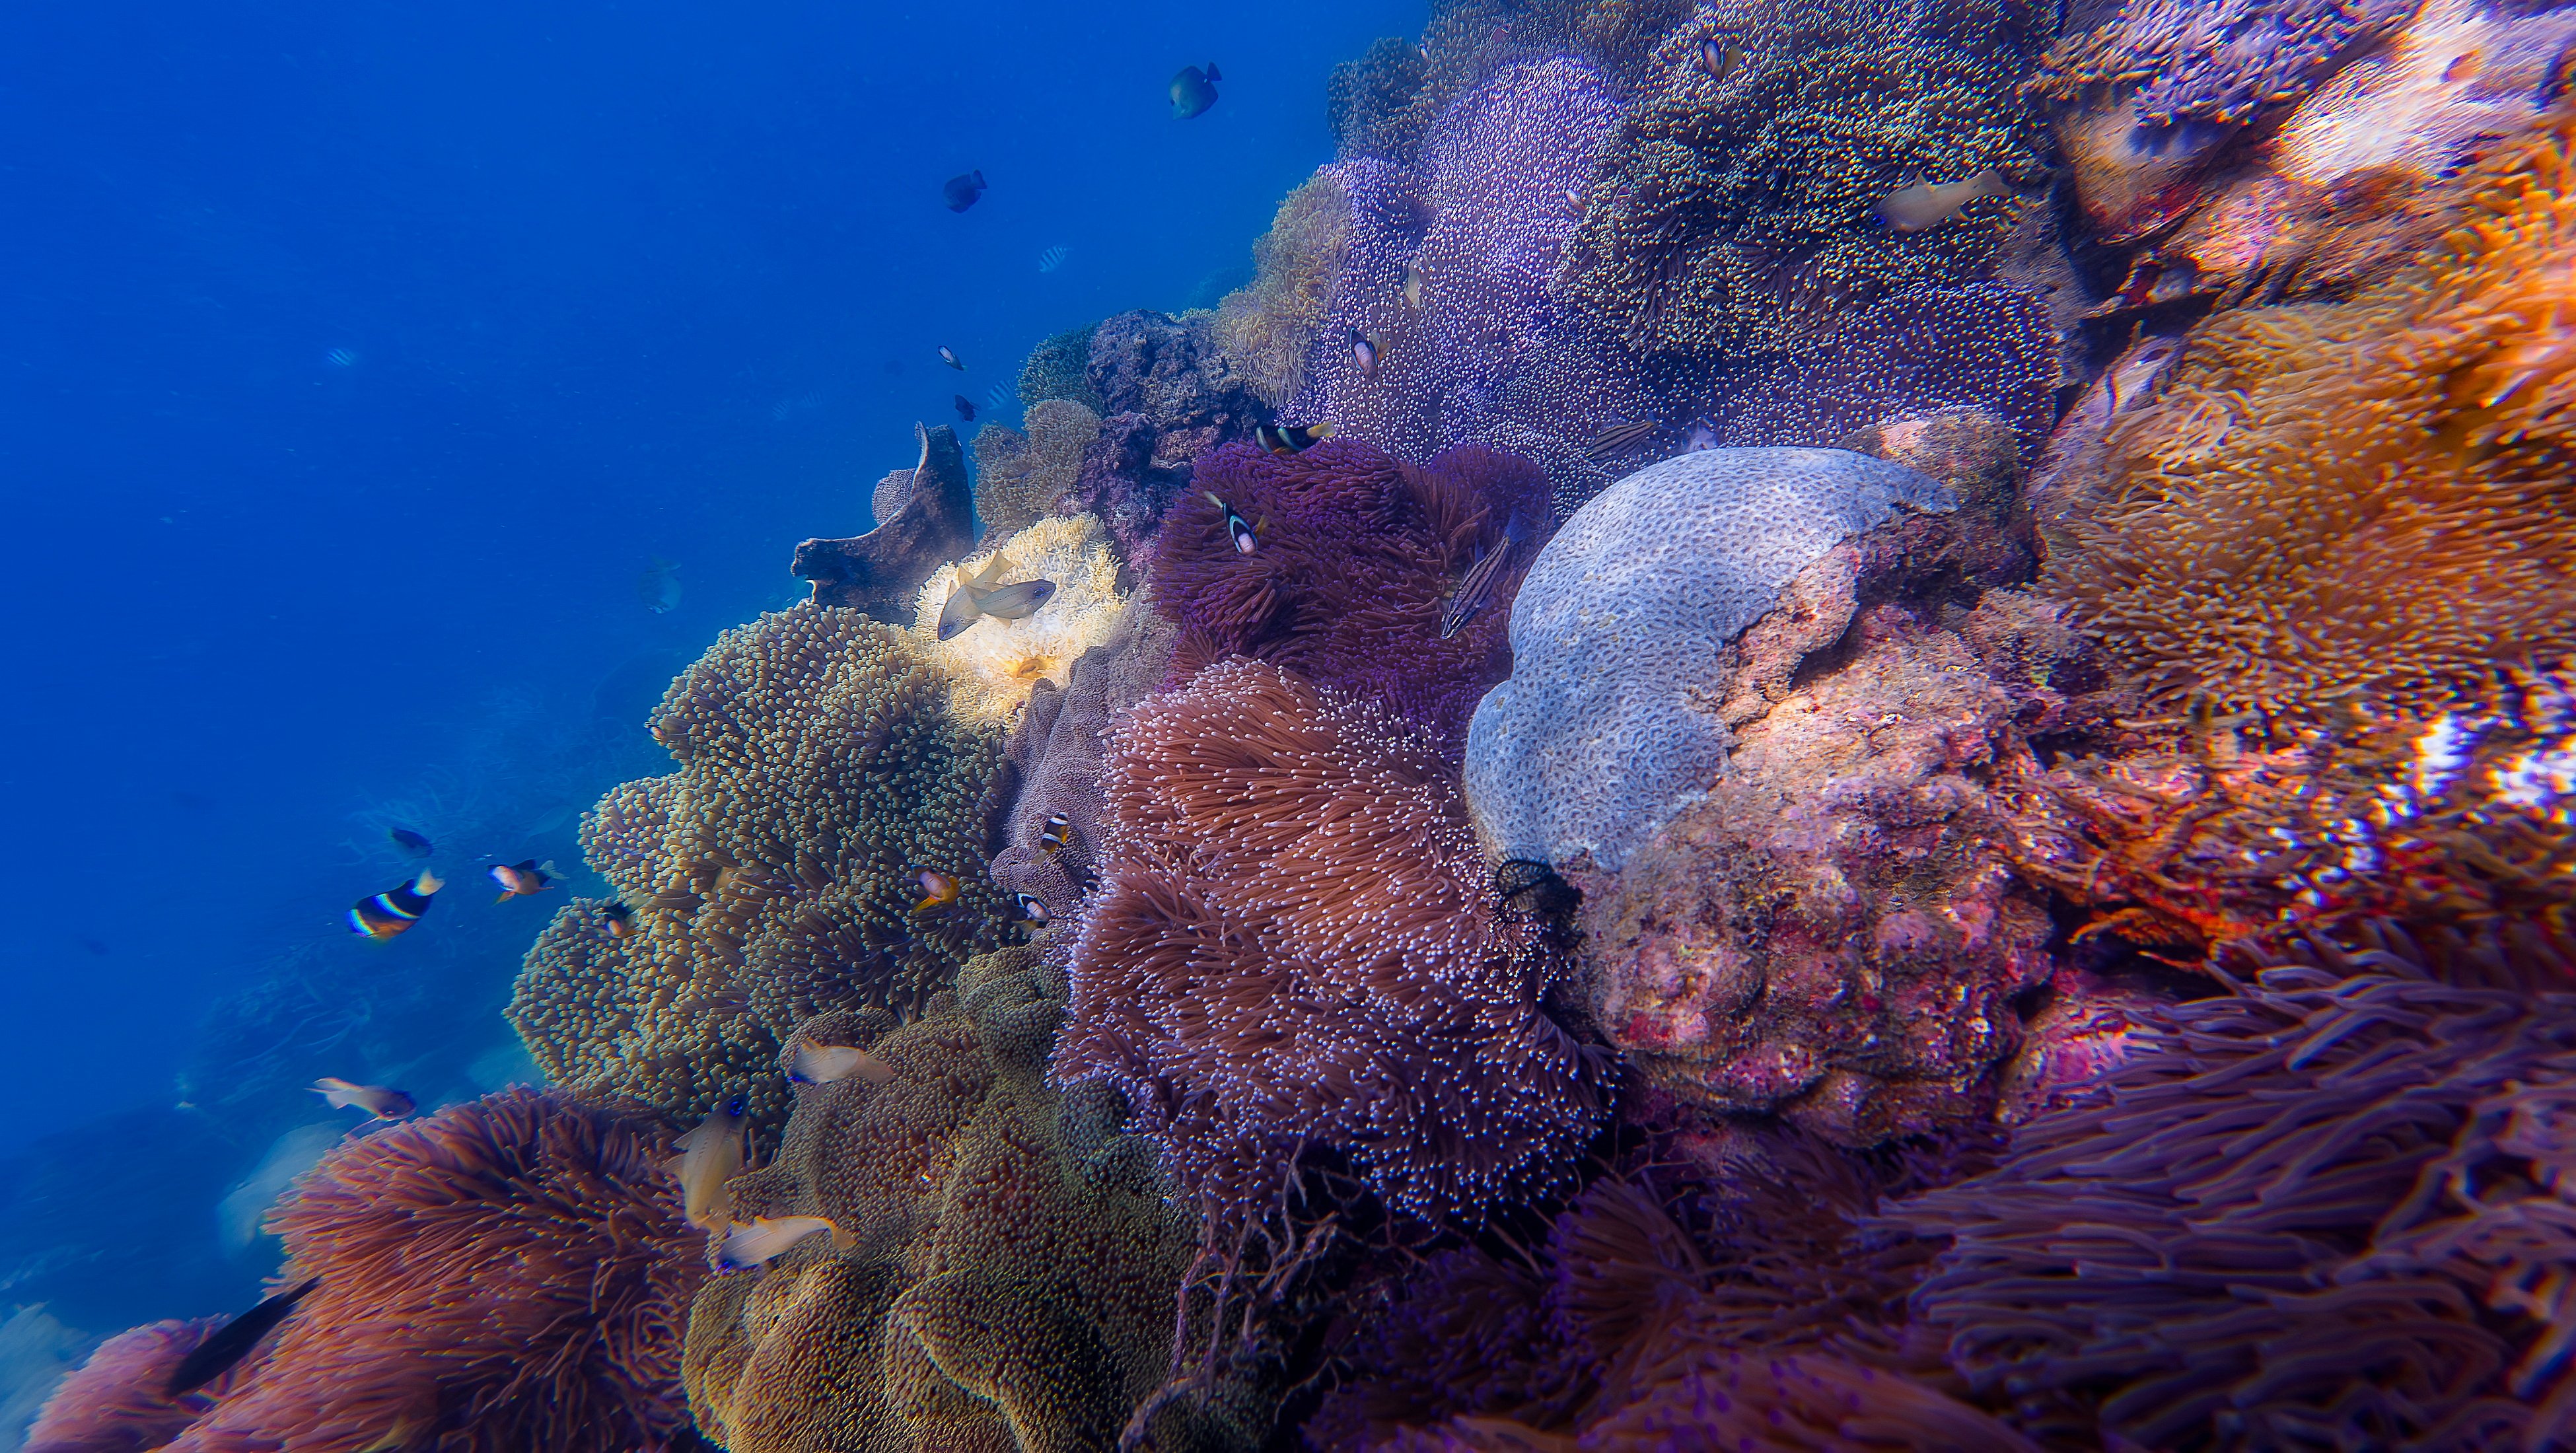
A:
[[[1893,1208],[1950,1242],[1914,1296],[1950,1363],[2043,1438],[2563,1440],[2576,1000],[2372,951],[2166,1015],[2002,1167]]]

